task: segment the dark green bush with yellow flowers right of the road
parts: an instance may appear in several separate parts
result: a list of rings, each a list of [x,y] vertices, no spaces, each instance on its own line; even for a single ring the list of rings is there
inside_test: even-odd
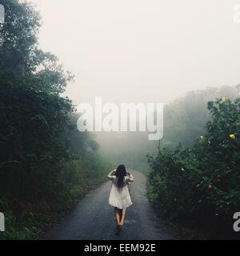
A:
[[[235,90],[228,88],[235,99],[207,102],[209,114],[198,111],[199,101],[188,104],[184,114],[175,110],[183,122],[166,130],[165,143],[148,156],[151,202],[168,218],[208,230],[214,238],[234,233],[233,216],[240,205],[240,98]],[[182,143],[177,144],[178,138]]]

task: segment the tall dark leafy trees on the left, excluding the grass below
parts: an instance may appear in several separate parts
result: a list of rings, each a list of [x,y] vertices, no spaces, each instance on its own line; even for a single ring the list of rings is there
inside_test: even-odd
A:
[[[11,186],[19,197],[33,198],[70,158],[73,107],[61,94],[73,77],[38,48],[41,19],[34,6],[1,3],[6,18],[0,27],[0,189]]]

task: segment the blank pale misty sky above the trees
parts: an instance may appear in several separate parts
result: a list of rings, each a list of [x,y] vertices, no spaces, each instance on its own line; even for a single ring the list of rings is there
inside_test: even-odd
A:
[[[31,0],[40,46],[76,74],[75,103],[169,102],[240,83],[240,0]]]

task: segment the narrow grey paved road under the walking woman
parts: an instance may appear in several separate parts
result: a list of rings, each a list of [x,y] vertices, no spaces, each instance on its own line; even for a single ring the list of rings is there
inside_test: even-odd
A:
[[[120,234],[115,234],[114,208],[108,204],[110,182],[90,191],[85,198],[55,226],[46,239],[51,240],[163,240],[176,239],[166,224],[154,213],[146,198],[146,177],[135,170],[130,184],[133,205],[126,210],[126,221]]]

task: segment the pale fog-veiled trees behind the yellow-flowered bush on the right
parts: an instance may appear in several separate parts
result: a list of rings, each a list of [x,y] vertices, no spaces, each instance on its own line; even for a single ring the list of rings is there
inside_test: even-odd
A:
[[[206,108],[207,102],[223,96],[235,99],[237,87],[222,86],[206,90],[193,91],[164,108],[164,136],[162,146],[183,147],[192,146],[195,138],[206,132],[206,122],[210,114]]]

